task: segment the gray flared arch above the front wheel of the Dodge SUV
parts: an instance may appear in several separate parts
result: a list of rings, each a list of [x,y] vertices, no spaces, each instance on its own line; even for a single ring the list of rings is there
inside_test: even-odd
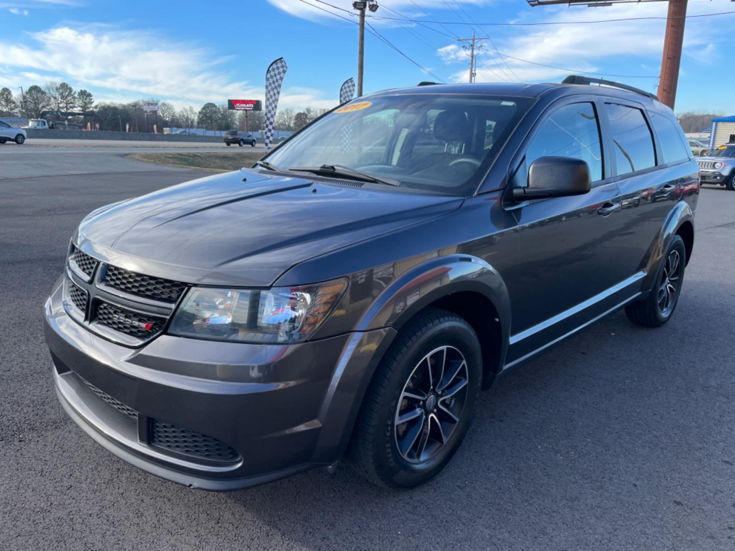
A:
[[[501,365],[509,342],[511,308],[506,284],[495,268],[476,256],[437,256],[395,278],[373,300],[357,331],[392,327],[400,331],[418,311],[456,292],[476,292],[490,300],[501,327]]]

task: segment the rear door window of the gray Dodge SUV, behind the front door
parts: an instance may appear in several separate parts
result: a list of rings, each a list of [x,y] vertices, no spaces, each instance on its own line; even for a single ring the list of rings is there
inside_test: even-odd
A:
[[[643,112],[625,105],[606,104],[605,107],[610,121],[617,175],[656,166],[653,137]]]

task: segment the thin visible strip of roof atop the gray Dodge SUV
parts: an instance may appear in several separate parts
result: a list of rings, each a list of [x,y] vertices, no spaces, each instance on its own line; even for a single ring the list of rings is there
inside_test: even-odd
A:
[[[510,82],[464,82],[460,84],[421,84],[419,86],[406,88],[392,88],[381,90],[367,97],[391,96],[394,94],[487,94],[488,96],[515,96],[525,98],[540,98],[546,94],[553,93],[554,97],[570,96],[576,94],[592,94],[595,96],[623,97],[645,104],[646,107],[654,107],[658,110],[659,101],[654,101],[648,96],[630,92],[623,88],[612,86],[591,86],[589,84],[562,84],[556,82],[544,82],[541,84],[516,84]]]

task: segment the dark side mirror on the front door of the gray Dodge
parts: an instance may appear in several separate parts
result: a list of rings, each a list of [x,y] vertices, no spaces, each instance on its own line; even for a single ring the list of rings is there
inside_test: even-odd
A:
[[[513,198],[517,202],[550,197],[584,195],[592,182],[589,165],[581,159],[570,157],[541,157],[528,168],[528,187],[514,187]]]

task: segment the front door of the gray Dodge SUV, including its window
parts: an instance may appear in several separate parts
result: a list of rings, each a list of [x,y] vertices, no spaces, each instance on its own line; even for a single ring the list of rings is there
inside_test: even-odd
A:
[[[587,162],[592,190],[531,201],[514,210],[520,264],[509,278],[513,306],[509,364],[619,301],[621,289],[616,286],[625,279],[614,254],[619,248],[620,190],[606,159],[600,122],[594,96],[564,98],[542,115],[523,146],[524,178],[539,157],[569,156]]]

